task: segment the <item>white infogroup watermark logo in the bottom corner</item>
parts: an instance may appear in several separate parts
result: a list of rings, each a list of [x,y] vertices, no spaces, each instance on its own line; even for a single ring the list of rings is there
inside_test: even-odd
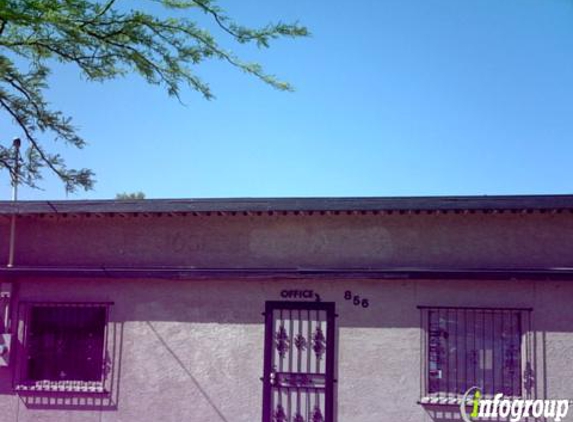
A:
[[[472,400],[472,411],[468,415],[467,404]],[[518,422],[523,418],[545,418],[561,421],[569,411],[569,400],[522,400],[503,398],[496,394],[493,399],[484,399],[478,387],[472,387],[463,396],[460,403],[460,413],[465,422],[488,420],[491,418],[509,418]]]

